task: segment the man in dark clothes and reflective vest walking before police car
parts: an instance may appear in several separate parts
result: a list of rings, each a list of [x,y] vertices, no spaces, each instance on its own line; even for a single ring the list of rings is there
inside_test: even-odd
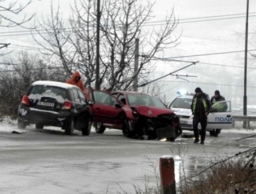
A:
[[[199,142],[198,124],[201,124],[201,144],[205,144],[206,126],[207,126],[207,115],[210,111],[210,99],[208,94],[203,93],[201,88],[195,89],[195,95],[193,96],[191,110],[193,113],[193,134],[195,141]]]

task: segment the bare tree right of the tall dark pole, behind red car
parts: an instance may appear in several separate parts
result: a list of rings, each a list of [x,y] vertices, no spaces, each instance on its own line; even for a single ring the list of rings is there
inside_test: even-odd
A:
[[[147,21],[152,18],[153,6],[154,3],[149,2],[145,5],[145,2],[138,0],[121,0],[104,7],[107,14],[102,15],[101,26],[108,45],[103,49],[110,59],[111,74],[107,74],[110,89],[132,89],[136,76],[139,81],[148,79],[151,72],[149,62],[156,52],[167,46],[176,46],[178,38],[172,39],[171,36],[177,27],[173,12],[167,16],[164,27],[153,27],[150,33],[143,31]],[[145,57],[141,58],[137,72],[134,72],[136,38],[141,42],[140,48],[145,48]],[[107,49],[110,51],[107,52]]]

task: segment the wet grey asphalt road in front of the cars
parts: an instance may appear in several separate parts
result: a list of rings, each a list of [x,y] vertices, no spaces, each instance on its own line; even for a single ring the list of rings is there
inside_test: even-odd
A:
[[[16,130],[16,127],[13,127]],[[205,145],[193,144],[191,132],[175,143],[128,139],[119,130],[89,136],[76,131],[64,135],[59,128],[22,133],[0,132],[0,193],[135,193],[134,187],[156,186],[159,158],[175,158],[175,178],[199,173],[207,161],[231,156],[255,146],[256,132],[223,130],[207,133]],[[185,137],[184,136],[184,137]],[[180,167],[184,161],[184,167]]]

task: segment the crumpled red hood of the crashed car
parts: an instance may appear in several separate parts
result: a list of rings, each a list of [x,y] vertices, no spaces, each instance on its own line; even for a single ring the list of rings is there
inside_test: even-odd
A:
[[[134,107],[139,115],[144,115],[146,117],[156,117],[158,115],[173,114],[174,111],[167,108],[158,108],[151,106],[135,106]]]

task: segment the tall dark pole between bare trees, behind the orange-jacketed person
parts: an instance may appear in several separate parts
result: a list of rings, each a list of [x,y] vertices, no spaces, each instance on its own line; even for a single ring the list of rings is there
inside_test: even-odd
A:
[[[97,0],[97,29],[96,29],[96,81],[95,89],[100,89],[100,0]]]

